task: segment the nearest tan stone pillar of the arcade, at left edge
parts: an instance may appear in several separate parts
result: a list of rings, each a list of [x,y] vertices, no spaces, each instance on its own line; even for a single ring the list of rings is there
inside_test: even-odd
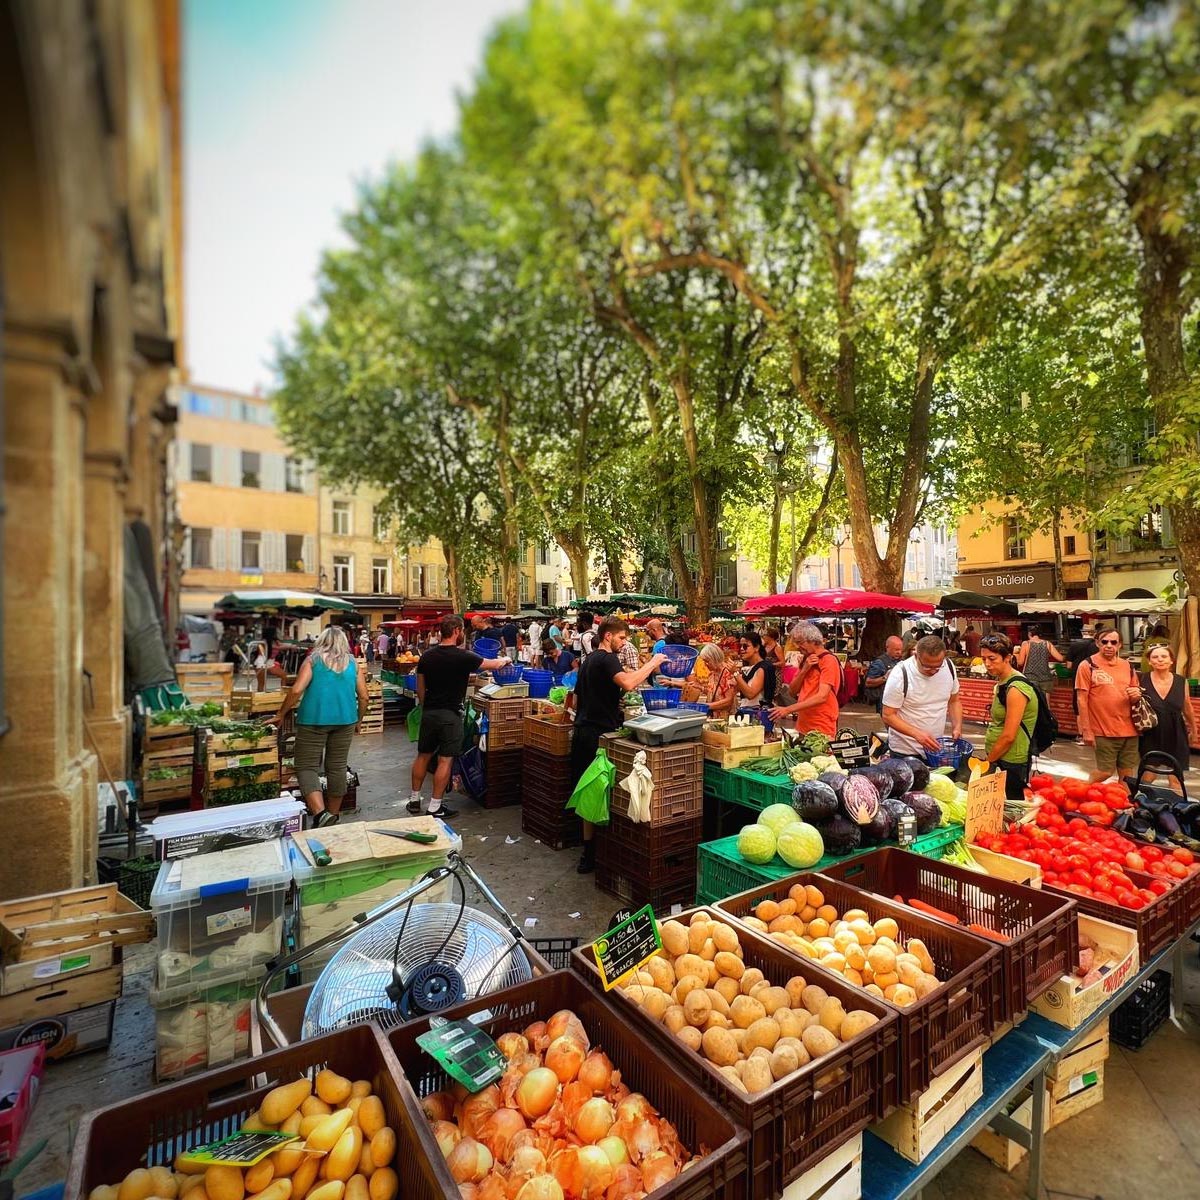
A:
[[[92,871],[96,760],[83,744],[83,403],[66,328],[5,330],[6,707],[0,898]]]

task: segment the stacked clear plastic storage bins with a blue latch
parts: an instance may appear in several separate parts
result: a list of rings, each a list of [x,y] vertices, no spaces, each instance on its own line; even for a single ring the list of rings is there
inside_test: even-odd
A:
[[[280,839],[162,864],[150,894],[158,925],[150,1004],[160,1080],[248,1052],[250,1006],[283,944],[290,888]]]

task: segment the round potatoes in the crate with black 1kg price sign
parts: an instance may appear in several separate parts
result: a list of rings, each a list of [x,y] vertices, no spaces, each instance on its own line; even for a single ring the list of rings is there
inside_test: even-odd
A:
[[[623,983],[625,995],[739,1091],[764,1091],[878,1020],[800,976],[774,985],[743,962],[737,930],[707,912],[660,932],[662,949]]]

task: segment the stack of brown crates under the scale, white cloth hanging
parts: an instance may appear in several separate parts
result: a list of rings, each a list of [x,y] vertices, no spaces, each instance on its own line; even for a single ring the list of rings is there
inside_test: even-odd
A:
[[[629,905],[666,911],[696,894],[696,847],[703,836],[704,748],[700,742],[643,746],[607,733],[600,746],[617,768],[611,820],[596,829],[596,886]],[[643,751],[654,779],[649,822],[629,820],[620,781]]]

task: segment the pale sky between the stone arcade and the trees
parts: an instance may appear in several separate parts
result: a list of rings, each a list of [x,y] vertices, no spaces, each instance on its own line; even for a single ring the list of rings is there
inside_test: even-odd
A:
[[[268,391],[358,181],[455,128],[520,0],[185,0],[185,354]]]

